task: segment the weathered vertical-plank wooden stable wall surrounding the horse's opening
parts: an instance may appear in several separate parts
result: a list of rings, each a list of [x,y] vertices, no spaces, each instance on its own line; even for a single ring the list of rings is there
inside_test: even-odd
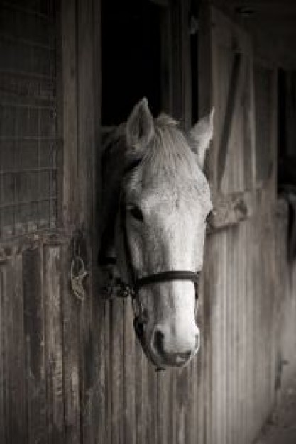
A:
[[[99,14],[94,0],[57,9],[58,229],[1,241],[0,443],[251,443],[296,355],[295,273],[285,217],[275,218],[275,70],[256,60],[241,28],[202,10],[200,111],[216,106],[202,347],[185,369],[155,372],[133,333],[131,301],[97,292]],[[184,108],[185,96],[176,100]],[[89,271],[83,301],[69,285],[73,238]]]

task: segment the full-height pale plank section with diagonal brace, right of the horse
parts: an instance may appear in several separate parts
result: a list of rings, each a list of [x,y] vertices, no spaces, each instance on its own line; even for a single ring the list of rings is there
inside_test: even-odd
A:
[[[215,106],[207,165],[214,216],[201,298],[204,442],[249,443],[275,396],[275,176],[273,168],[265,177],[258,162],[268,151],[276,163],[276,83],[268,70],[270,89],[261,89],[267,79],[258,78],[246,30],[217,9],[201,15],[200,110]],[[270,144],[262,147],[266,132]]]

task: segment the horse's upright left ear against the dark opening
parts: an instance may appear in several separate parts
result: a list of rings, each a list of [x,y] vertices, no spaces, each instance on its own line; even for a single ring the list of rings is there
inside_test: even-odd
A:
[[[134,106],[126,123],[126,141],[128,146],[138,148],[146,146],[154,135],[153,117],[144,97]]]

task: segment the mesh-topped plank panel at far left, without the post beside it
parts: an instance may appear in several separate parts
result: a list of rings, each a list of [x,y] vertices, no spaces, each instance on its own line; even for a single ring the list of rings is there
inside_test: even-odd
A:
[[[1,443],[44,442],[62,421],[55,6],[0,4]]]

